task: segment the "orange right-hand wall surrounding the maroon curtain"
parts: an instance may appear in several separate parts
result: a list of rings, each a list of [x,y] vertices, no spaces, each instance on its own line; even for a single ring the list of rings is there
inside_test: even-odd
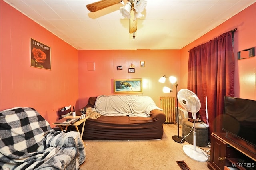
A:
[[[235,97],[256,100],[256,57],[237,60],[238,51],[256,47],[256,3],[180,50],[181,62],[185,63],[180,70],[181,75],[186,75],[182,79],[184,87],[187,84],[188,51],[234,28],[237,28],[234,34]]]

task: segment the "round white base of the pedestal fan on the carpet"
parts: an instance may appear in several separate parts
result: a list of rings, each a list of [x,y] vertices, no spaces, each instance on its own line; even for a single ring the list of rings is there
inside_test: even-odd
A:
[[[188,155],[190,158],[198,161],[198,162],[206,162],[208,160],[208,156],[206,153],[202,152],[202,149],[196,147],[196,150],[194,150],[193,145],[184,145],[183,151],[186,155]]]

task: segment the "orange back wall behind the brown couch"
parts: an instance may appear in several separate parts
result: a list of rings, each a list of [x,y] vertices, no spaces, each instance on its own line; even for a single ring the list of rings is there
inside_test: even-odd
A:
[[[145,61],[145,67],[140,67],[141,60]],[[95,71],[87,70],[87,62],[95,63]],[[131,64],[135,65],[135,73],[128,73]],[[119,65],[123,66],[122,70],[116,69]],[[79,50],[79,107],[84,107],[91,96],[113,95],[114,79],[134,78],[142,78],[143,93],[131,95],[150,96],[159,106],[160,96],[176,96],[176,93],[175,87],[174,92],[163,93],[162,88],[170,87],[170,83],[162,84],[158,79],[163,75],[173,75],[179,80],[179,67],[179,50]]]

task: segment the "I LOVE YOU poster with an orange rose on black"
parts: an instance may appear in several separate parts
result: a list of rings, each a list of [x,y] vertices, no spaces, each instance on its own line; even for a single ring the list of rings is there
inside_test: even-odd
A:
[[[30,38],[30,66],[51,70],[51,47]]]

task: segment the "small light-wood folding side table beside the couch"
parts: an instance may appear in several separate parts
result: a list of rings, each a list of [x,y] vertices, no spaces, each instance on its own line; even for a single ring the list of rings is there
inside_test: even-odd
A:
[[[66,119],[68,118],[71,118],[71,119],[74,119],[74,118],[79,118],[80,116],[76,116],[76,117],[73,117],[73,116],[66,116],[62,119],[60,119],[60,121],[66,121]],[[81,132],[81,138],[83,137],[83,134],[84,134],[84,125],[85,125],[85,121],[86,119],[88,119],[89,116],[85,117],[84,119],[80,119],[79,121],[76,121],[74,124],[65,124],[65,123],[53,123],[53,125],[58,125],[60,127],[60,130],[63,131],[63,128],[62,126],[65,126],[65,130],[67,130],[68,126],[74,126],[76,128],[76,131],[79,132],[79,129],[77,126],[81,125],[83,123],[83,127],[82,127],[82,132]]]

